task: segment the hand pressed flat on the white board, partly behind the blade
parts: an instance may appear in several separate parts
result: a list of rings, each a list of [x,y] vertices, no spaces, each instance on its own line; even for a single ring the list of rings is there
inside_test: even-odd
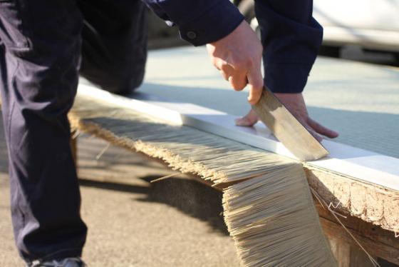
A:
[[[306,104],[302,94],[274,94],[284,106],[303,124],[306,129],[318,140],[322,138],[319,134],[329,138],[336,138],[338,133],[332,131],[309,117]],[[253,126],[259,121],[254,110],[250,110],[247,115],[236,120],[238,126]]]

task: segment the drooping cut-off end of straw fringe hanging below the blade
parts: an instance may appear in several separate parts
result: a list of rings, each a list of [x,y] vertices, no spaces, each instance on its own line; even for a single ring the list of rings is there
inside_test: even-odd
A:
[[[301,164],[229,186],[223,207],[242,265],[335,266]]]

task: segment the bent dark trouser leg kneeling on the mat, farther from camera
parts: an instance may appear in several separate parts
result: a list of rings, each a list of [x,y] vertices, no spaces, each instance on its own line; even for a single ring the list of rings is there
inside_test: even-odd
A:
[[[147,9],[140,0],[78,0],[81,75],[114,93],[140,86],[147,59]]]

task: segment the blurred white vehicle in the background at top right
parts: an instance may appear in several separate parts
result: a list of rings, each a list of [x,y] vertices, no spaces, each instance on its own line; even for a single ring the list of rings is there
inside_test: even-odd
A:
[[[235,4],[253,29],[259,31],[254,1]],[[399,0],[314,0],[314,17],[324,28],[325,51],[356,44],[368,50],[399,54]]]

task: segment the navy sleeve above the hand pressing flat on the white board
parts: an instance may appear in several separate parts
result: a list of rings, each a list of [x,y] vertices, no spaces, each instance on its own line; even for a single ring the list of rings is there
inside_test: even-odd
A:
[[[276,93],[300,93],[323,39],[312,0],[255,0],[264,46],[264,82]]]

